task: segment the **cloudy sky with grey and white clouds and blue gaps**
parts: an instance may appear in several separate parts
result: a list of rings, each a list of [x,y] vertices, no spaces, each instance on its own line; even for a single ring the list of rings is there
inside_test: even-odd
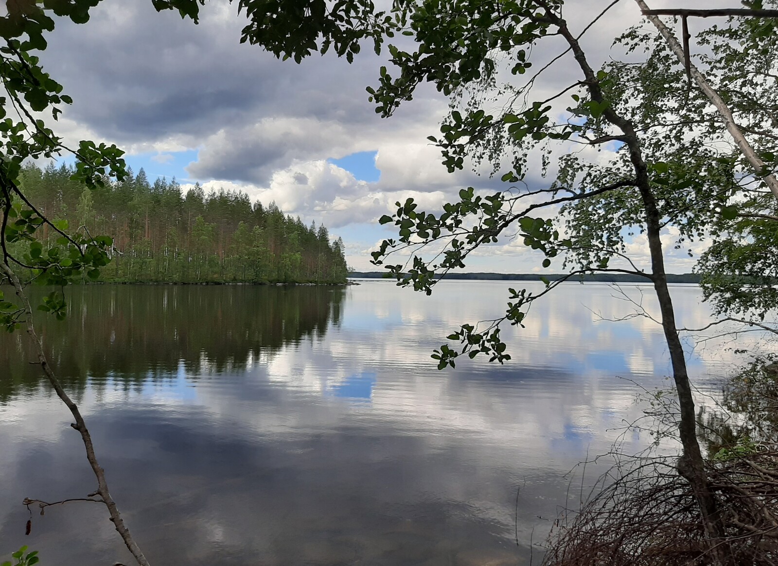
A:
[[[566,19],[582,27],[608,3],[570,0]],[[686,3],[695,7],[695,0]],[[463,187],[506,188],[488,174],[447,173],[426,138],[439,133],[448,102],[429,85],[393,117],[375,113],[365,88],[377,85],[384,59],[372,50],[363,49],[352,65],[332,54],[300,65],[279,61],[239,43],[245,19],[237,3],[207,3],[197,26],[176,12],[156,12],[149,0],[105,0],[91,13],[84,25],[59,21],[41,56],[75,101],[60,117],[58,134],[116,143],[136,172],[175,176],[185,190],[195,182],[206,190],[243,190],[306,223],[323,222],[343,238],[349,265],[359,271],[376,270],[370,251],[396,236],[377,223],[396,201],[413,197],[420,209],[439,210]],[[639,21],[635,2],[621,0],[584,36],[591,61],[605,61],[612,38]],[[558,48],[552,40],[533,56],[547,60]],[[580,74],[569,57],[552,71],[538,83],[538,98]],[[533,171],[527,182],[548,183]],[[671,243],[671,234],[665,239]],[[647,265],[645,242],[629,245],[637,263]],[[691,271],[685,250],[669,248],[668,271]],[[542,270],[541,260],[504,240],[479,251],[466,271],[559,271]]]

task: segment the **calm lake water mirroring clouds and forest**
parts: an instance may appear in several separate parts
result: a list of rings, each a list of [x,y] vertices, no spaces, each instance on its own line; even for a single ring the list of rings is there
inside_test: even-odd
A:
[[[629,379],[667,386],[669,360],[650,320],[601,320],[634,310],[615,288],[566,284],[503,332],[510,363],[437,371],[443,337],[522,284],[89,286],[41,328],[152,564],[528,564],[596,475],[566,473],[640,414]],[[653,309],[650,288],[622,289]],[[679,323],[710,322],[699,288],[671,291]],[[24,536],[23,498],[95,487],[25,339],[0,336],[0,561],[26,544],[41,564],[131,564],[102,505],[33,510]],[[732,342],[687,346],[703,390],[738,360]]]

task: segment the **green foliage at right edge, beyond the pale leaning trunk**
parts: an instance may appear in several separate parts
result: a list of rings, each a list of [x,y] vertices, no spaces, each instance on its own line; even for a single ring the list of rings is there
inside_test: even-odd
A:
[[[749,2],[776,8],[778,2]],[[773,169],[778,154],[778,33],[775,19],[731,19],[700,34],[707,53],[700,56],[706,74],[731,107],[735,120],[759,156]],[[709,118],[710,120],[710,118]],[[710,120],[711,126],[715,121]],[[746,176],[752,180],[752,176]],[[715,241],[697,270],[706,299],[718,313],[756,316],[778,306],[776,226],[778,203],[758,183],[724,209]]]

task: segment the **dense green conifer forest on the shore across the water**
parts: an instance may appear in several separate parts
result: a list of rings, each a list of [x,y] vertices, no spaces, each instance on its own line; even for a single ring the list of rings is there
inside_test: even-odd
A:
[[[86,281],[341,283],[342,239],[324,225],[304,225],[275,202],[252,203],[232,190],[184,193],[173,178],[148,179],[143,169],[90,190],[72,180],[75,168],[35,164],[22,183],[40,211],[86,234],[113,237],[112,260]],[[60,235],[48,225],[40,241],[49,249]]]

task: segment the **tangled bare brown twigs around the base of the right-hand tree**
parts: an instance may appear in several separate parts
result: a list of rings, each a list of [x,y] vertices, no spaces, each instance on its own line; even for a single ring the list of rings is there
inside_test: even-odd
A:
[[[616,454],[616,457],[619,455]],[[755,463],[757,460],[759,463]],[[778,453],[762,451],[748,459],[707,463],[711,487],[727,517],[718,547],[731,562],[773,566],[778,551],[778,482],[755,477],[763,470],[776,477]],[[604,474],[609,483],[555,526],[546,566],[703,566],[711,549],[699,521],[689,485],[672,470],[670,458],[619,460]]]

